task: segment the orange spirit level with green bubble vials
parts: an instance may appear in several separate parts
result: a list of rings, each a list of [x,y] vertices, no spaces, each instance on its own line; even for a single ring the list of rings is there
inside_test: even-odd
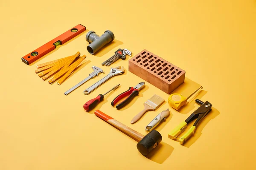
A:
[[[70,30],[64,32],[60,36],[56,37],[55,39],[47,42],[46,44],[42,45],[35,51],[27,54],[26,56],[22,57],[22,62],[26,63],[27,65],[31,64],[35,60],[43,57],[45,54],[54,50],[58,45],[62,45],[65,42],[71,40],[72,38],[76,37],[77,35],[81,34],[86,30],[85,26],[78,24],[77,26],[71,28]]]

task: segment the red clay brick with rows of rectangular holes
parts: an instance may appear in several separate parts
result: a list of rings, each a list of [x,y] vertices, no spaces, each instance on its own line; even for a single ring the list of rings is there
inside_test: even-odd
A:
[[[186,73],[147,50],[129,59],[129,71],[167,94],[184,82]]]

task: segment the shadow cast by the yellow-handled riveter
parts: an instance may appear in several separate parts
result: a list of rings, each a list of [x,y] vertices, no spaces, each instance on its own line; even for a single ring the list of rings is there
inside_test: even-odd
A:
[[[195,143],[202,135],[202,130],[204,129],[204,127],[209,123],[210,120],[214,119],[219,114],[220,112],[217,109],[212,108],[212,111],[210,111],[207,116],[205,116],[204,119],[196,126],[195,133],[186,141],[185,144],[183,144],[183,146],[189,148],[193,143]],[[195,120],[190,122],[189,125],[186,127],[186,130],[179,136],[182,136],[184,133],[186,133],[187,130],[189,130],[189,128],[194,124]]]

